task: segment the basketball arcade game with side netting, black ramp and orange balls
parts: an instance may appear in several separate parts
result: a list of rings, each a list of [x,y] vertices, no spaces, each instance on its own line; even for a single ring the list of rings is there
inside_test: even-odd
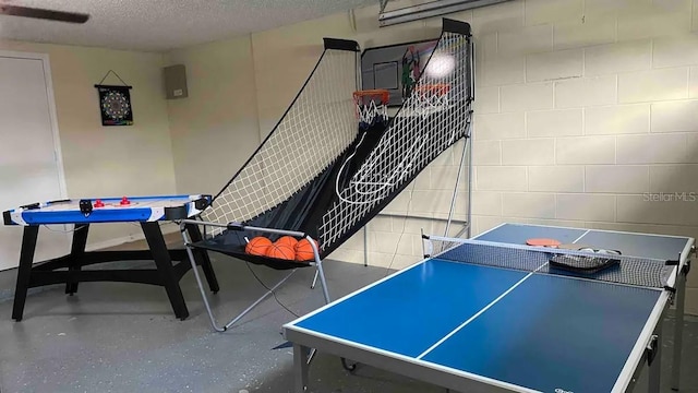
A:
[[[220,252],[245,263],[291,270],[222,326],[216,324],[195,273],[216,331],[232,326],[299,267],[315,267],[329,301],[323,259],[395,200],[438,155],[470,138],[473,75],[468,23],[443,20],[434,53],[447,58],[447,67],[422,73],[413,94],[389,118],[385,105],[389,92],[359,90],[358,43],[325,38],[324,44],[301,91],[258,148],[209,207],[196,219],[182,221],[204,229],[203,241],[183,234],[192,251]],[[250,253],[249,241],[262,236],[268,236],[272,245],[286,236],[303,237],[313,248],[313,258],[298,261],[290,258],[291,252],[265,253],[256,241]],[[193,265],[194,259],[190,261]]]

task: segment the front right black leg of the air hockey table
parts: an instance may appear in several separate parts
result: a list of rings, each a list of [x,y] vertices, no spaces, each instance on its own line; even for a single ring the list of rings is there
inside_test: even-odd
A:
[[[184,320],[189,317],[189,310],[184,303],[184,297],[182,290],[179,287],[178,279],[174,276],[174,270],[172,269],[172,260],[170,253],[163,238],[163,231],[157,222],[154,223],[141,223],[145,240],[148,242],[153,259],[157,266],[158,274],[163,279],[163,285],[167,290],[167,296],[172,305],[172,310],[177,318]]]

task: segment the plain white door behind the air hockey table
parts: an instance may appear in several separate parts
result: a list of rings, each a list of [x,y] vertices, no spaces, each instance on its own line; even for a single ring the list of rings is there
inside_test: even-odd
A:
[[[0,51],[0,211],[64,198],[48,58]],[[35,261],[69,249],[64,226],[40,228]],[[23,228],[0,225],[0,270],[15,267]]]

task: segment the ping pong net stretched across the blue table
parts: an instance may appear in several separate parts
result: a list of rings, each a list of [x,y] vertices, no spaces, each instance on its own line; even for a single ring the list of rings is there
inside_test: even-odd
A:
[[[673,287],[675,265],[599,250],[498,243],[476,239],[424,236],[424,255],[454,262],[502,267],[538,274],[609,282],[640,287]]]

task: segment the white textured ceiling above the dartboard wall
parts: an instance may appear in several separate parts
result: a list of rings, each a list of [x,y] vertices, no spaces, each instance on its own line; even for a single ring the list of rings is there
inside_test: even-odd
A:
[[[87,23],[77,25],[0,15],[0,38],[166,51],[311,20],[377,0],[0,0],[0,3],[91,15]]]

